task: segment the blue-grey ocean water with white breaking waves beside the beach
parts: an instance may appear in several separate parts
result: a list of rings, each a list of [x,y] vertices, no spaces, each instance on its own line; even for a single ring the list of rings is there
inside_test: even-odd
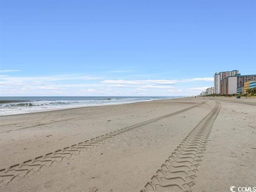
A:
[[[133,103],[177,97],[0,97],[0,115]]]

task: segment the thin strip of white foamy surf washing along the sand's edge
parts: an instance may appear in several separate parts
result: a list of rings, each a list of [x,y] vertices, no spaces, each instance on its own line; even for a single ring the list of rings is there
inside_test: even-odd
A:
[[[21,113],[14,113],[14,114],[0,114],[1,116],[13,116],[13,115],[20,115],[20,114],[31,114],[31,113],[40,113],[40,112],[47,112],[47,111],[56,111],[56,110],[68,110],[68,109],[76,109],[76,108],[88,108],[88,107],[98,107],[98,106],[111,106],[111,105],[121,105],[121,104],[130,104],[130,103],[138,103],[138,102],[150,102],[156,100],[168,100],[168,99],[177,99],[177,98],[189,98],[189,96],[177,96],[176,98],[163,98],[163,99],[152,99],[152,100],[140,100],[140,101],[131,101],[131,102],[120,102],[120,103],[107,103],[107,104],[96,104],[96,105],[88,105],[88,106],[70,106],[70,107],[63,107],[63,108],[49,108],[49,109],[38,109],[38,110],[31,110],[28,112],[21,112]],[[11,103],[11,102],[10,102]]]

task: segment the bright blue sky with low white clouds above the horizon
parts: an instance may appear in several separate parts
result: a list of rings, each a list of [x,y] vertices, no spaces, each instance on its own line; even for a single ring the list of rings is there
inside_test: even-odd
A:
[[[256,74],[256,1],[0,2],[0,96],[191,96]]]

